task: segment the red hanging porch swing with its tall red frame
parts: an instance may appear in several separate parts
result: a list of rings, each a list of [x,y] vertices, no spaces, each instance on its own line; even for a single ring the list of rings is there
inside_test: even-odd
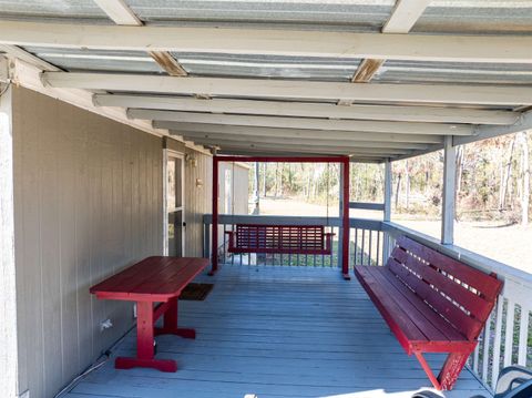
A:
[[[218,163],[219,162],[313,162],[341,163],[344,173],[342,198],[342,274],[349,278],[348,244],[349,244],[349,157],[262,157],[262,156],[214,156],[213,160],[213,258],[212,272],[217,271],[218,242]],[[328,204],[327,192],[327,204]],[[327,206],[328,220],[328,206]],[[332,236],[324,225],[264,225],[237,224],[236,228],[226,232],[229,253],[275,253],[275,254],[308,254],[330,255],[332,253]]]

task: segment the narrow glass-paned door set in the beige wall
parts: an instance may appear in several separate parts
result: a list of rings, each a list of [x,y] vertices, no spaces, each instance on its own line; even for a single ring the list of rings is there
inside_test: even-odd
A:
[[[167,254],[176,257],[185,255],[183,177],[183,156],[168,153],[166,160]]]

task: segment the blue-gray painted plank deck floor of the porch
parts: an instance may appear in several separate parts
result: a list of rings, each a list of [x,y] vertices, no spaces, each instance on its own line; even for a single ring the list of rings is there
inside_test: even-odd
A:
[[[109,361],[66,397],[410,397],[430,386],[358,282],[338,269],[228,265],[200,278],[215,282],[208,298],[180,304],[181,325],[197,338],[157,338],[157,357],[176,359],[177,373]],[[134,350],[131,333],[115,354]],[[475,394],[489,396],[464,369],[444,397]]]

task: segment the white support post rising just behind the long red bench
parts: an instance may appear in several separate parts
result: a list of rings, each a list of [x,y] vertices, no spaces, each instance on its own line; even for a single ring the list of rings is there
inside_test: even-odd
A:
[[[454,242],[454,210],[457,185],[457,151],[452,145],[452,136],[443,141],[443,194],[441,214],[441,244],[452,245]]]

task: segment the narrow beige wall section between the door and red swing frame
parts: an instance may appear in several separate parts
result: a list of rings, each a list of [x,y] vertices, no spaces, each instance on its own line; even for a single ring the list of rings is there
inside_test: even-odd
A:
[[[190,149],[186,154],[193,155],[197,164],[185,162],[185,254],[202,257],[203,215],[212,211],[213,159]]]

